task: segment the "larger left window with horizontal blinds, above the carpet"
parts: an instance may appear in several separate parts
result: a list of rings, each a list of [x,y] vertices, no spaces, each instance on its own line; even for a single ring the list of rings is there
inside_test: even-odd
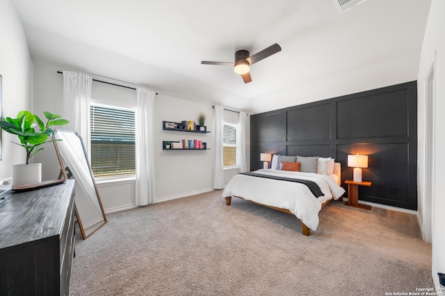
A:
[[[91,166],[95,177],[136,174],[135,110],[92,104]]]

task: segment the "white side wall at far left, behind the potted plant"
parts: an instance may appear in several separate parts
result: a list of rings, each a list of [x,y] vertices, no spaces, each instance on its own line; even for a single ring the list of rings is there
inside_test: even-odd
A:
[[[22,23],[9,0],[0,0],[0,75],[3,76],[2,114],[15,118],[31,110],[32,62]],[[11,141],[17,137],[2,132],[0,177],[12,176],[13,164],[26,162],[26,151]]]

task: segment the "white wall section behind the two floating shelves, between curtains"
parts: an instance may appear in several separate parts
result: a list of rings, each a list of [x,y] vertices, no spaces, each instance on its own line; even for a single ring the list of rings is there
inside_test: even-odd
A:
[[[208,191],[213,188],[214,116],[211,105],[163,96],[156,97],[154,116],[154,165],[156,199],[165,200]],[[200,112],[207,116],[207,131],[200,134],[162,130],[162,121],[198,121]],[[198,139],[210,150],[162,150],[162,141]]]

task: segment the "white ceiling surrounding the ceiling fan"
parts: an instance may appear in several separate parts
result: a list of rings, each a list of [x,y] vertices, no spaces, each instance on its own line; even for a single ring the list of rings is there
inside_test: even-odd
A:
[[[252,113],[298,105],[289,95],[297,89],[401,57],[392,68],[403,74],[385,75],[415,80],[430,8],[430,0],[367,0],[343,14],[332,0],[12,2],[36,60]],[[248,84],[232,67],[200,64],[274,43],[282,51],[252,65]]]

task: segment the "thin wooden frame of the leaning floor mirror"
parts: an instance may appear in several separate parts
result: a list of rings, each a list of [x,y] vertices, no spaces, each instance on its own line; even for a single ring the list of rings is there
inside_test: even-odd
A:
[[[97,185],[96,185],[96,182],[95,182],[95,177],[94,177],[94,174],[92,173],[91,164],[90,164],[90,161],[88,160],[88,155],[87,155],[87,153],[86,153],[86,148],[85,148],[85,145],[83,144],[82,137],[80,136],[80,134],[78,134],[78,133],[77,133],[76,131],[74,131],[74,130],[63,130],[63,129],[56,129],[56,130],[54,130],[54,134],[53,134],[53,136],[52,136],[52,138],[53,138],[53,143],[54,143],[54,148],[56,149],[56,154],[57,154],[57,158],[58,158],[58,163],[60,164],[60,172],[62,173],[63,178],[64,178],[65,180],[68,180],[68,176],[67,176],[67,171],[66,171],[66,169],[65,169],[66,166],[63,164],[63,157],[62,157],[62,155],[60,155],[60,150],[59,150],[59,148],[58,148],[58,144],[57,144],[57,142],[58,142],[59,140],[56,139],[56,134],[57,134],[57,132],[70,132],[70,133],[72,133],[72,134],[75,134],[76,137],[79,138],[79,141],[81,142],[82,149],[83,149],[83,155],[85,155],[86,163],[88,164],[88,171],[90,171],[90,177],[91,177],[91,180],[92,180],[92,184],[93,184],[94,187],[95,187],[95,192],[96,192],[97,200],[98,200],[98,202],[99,202],[99,207],[100,207],[100,209],[101,209],[101,211],[102,211],[102,217],[104,218],[104,223],[100,223],[100,224],[98,224],[97,227],[96,227],[95,229],[93,229],[92,232],[91,232],[90,234],[86,235],[86,232],[85,232],[85,229],[83,228],[83,224],[82,224],[82,220],[81,220],[81,213],[79,213],[79,211],[78,211],[78,209],[77,209],[77,207],[76,207],[76,198],[74,198],[74,208],[75,208],[75,211],[76,211],[77,222],[79,223],[79,228],[80,228],[80,230],[81,230],[82,238],[83,238],[83,239],[86,239],[86,238],[88,238],[89,236],[91,236],[91,234],[94,234],[95,232],[97,232],[97,230],[98,230],[99,228],[101,228],[102,226],[104,226],[108,221],[106,220],[106,215],[105,215],[104,207],[103,207],[103,205],[102,205],[102,200],[100,200],[99,191],[97,190]],[[72,172],[71,172],[71,173],[72,173]],[[74,179],[75,179],[76,175],[74,175],[74,173],[73,173],[72,175],[73,175],[73,177],[74,177]]]

